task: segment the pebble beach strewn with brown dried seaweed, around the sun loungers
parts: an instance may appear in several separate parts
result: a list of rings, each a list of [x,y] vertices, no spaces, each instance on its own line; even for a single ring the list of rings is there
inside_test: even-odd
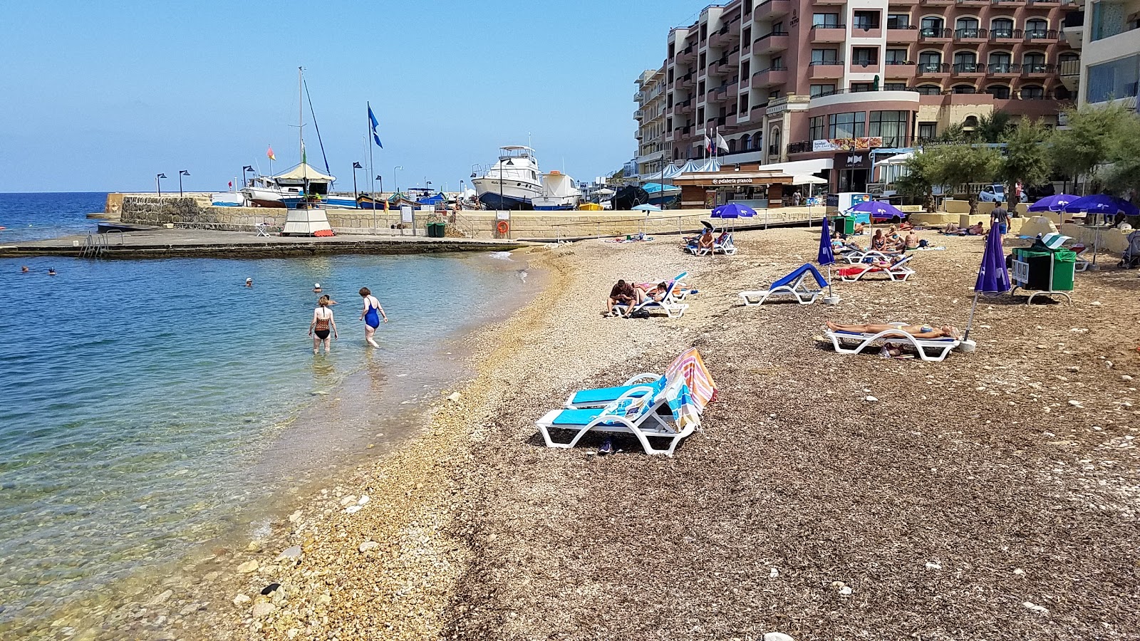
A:
[[[514,252],[543,292],[466,339],[477,374],[402,446],[317,484],[263,537],[124,591],[76,639],[1140,639],[1140,281],[983,299],[971,354],[844,356],[826,320],[964,328],[983,238],[921,236],[904,283],[743,307],[817,229]],[[1009,246],[1009,244],[1007,244]],[[602,316],[687,271],[681,318]],[[1041,300],[1040,298],[1037,300]],[[535,421],[697,347],[718,387],[673,457]],[[186,577],[195,577],[187,581]],[[63,624],[60,624],[63,625]],[[783,639],[769,636],[771,639]]]

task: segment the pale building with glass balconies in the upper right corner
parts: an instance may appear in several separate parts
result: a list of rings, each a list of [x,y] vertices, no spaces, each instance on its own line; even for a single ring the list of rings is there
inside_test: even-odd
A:
[[[1064,34],[1080,59],[1061,64],[1061,81],[1081,105],[1122,102],[1137,107],[1140,84],[1140,0],[1080,0]]]

